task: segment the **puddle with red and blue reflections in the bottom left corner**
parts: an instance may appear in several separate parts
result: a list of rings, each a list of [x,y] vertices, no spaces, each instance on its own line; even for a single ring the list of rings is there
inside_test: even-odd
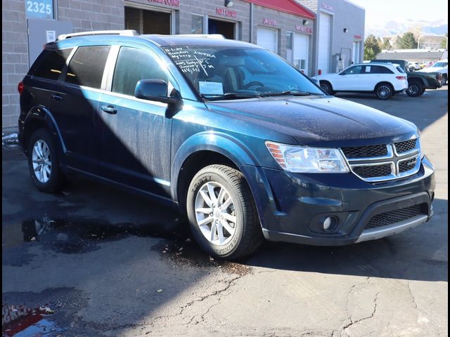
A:
[[[65,331],[48,319],[54,312],[47,306],[27,308],[4,304],[1,312],[2,337],[56,337],[63,336]]]

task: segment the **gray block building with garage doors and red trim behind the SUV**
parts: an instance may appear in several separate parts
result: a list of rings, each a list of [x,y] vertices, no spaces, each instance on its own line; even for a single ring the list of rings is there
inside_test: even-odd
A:
[[[338,58],[345,65],[362,59],[364,10],[345,0],[4,0],[2,27],[5,127],[17,123],[18,83],[59,34],[223,34],[278,53],[312,76],[335,70]]]

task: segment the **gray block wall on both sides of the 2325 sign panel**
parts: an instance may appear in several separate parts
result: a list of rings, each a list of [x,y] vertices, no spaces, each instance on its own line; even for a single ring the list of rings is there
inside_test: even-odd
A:
[[[60,21],[72,22],[74,32],[124,29],[123,0],[58,0]],[[16,126],[17,85],[27,73],[28,44],[24,0],[4,0],[1,8],[1,126]]]

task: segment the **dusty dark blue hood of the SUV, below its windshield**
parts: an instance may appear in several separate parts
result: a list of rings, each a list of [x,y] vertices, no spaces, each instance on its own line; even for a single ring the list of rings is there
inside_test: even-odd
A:
[[[409,139],[418,133],[409,121],[340,98],[278,97],[208,102],[210,109],[295,138],[300,145],[371,145]],[[277,141],[276,139],[272,139]]]

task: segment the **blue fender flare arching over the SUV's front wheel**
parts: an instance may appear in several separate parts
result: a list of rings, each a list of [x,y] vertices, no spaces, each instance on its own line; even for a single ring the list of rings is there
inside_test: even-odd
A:
[[[172,160],[170,192],[174,201],[178,201],[179,173],[188,157],[195,152],[211,151],[227,157],[237,167],[246,164],[258,166],[258,161],[250,149],[240,140],[226,133],[205,131],[196,133],[179,147]]]

